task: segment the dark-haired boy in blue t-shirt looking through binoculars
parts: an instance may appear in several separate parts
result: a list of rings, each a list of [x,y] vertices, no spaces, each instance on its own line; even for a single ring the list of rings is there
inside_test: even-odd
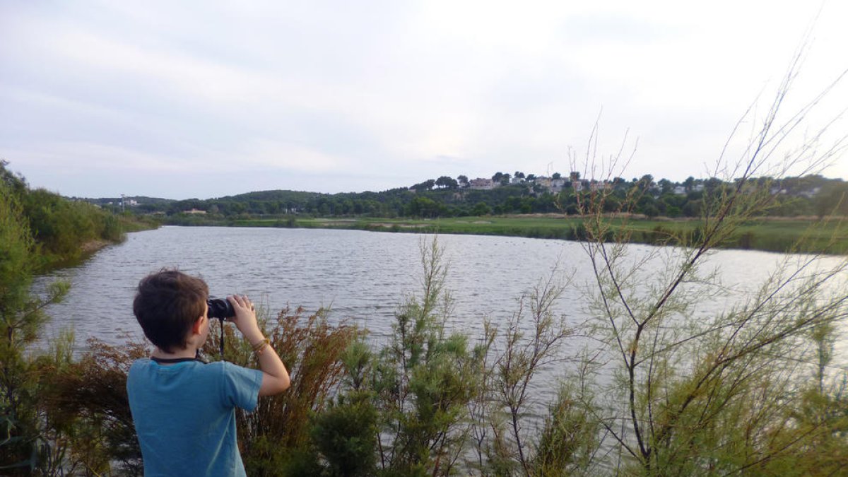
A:
[[[260,370],[197,359],[209,335],[208,298],[203,280],[176,270],[138,283],[132,311],[156,349],[132,364],[126,390],[148,477],[245,475],[235,408],[253,411],[259,396],[290,384],[247,296],[227,298],[236,314],[228,319],[253,346]]]

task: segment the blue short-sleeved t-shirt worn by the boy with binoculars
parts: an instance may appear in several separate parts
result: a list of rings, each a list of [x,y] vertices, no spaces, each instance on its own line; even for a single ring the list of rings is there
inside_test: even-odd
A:
[[[126,390],[144,475],[245,475],[235,408],[253,411],[261,385],[261,371],[230,362],[133,362]]]

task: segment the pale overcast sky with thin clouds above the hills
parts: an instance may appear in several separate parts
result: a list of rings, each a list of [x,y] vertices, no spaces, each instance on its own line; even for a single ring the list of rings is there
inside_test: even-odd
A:
[[[711,177],[799,48],[775,124],[848,69],[846,19],[841,1],[0,0],[0,158],[92,198]],[[776,160],[848,133],[846,82]],[[848,155],[821,173],[848,178]]]

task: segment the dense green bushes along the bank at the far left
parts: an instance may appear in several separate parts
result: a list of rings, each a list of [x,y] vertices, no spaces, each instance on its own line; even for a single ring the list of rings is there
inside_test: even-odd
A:
[[[67,427],[66,419],[48,412],[51,379],[72,368],[70,345],[58,344],[49,356],[34,356],[27,347],[48,319],[44,307],[62,300],[69,284],[52,283],[35,296],[33,275],[80,258],[88,242],[117,241],[128,227],[146,225],[31,190],[7,164],[0,160],[0,474],[62,474],[70,462],[63,453],[68,441],[74,452],[104,441],[87,439],[85,427]],[[65,429],[73,431],[70,437]]]

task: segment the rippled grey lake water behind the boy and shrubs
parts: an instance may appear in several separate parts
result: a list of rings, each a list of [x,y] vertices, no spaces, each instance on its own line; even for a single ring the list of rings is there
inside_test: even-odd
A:
[[[419,247],[430,239],[415,233],[352,230],[162,227],[131,233],[124,243],[100,250],[76,267],[38,278],[35,289],[56,278],[70,281],[68,297],[47,307],[53,320],[46,335],[73,327],[78,349],[88,337],[112,344],[124,341],[126,334],[140,338],[132,315],[135,288],[141,278],[162,267],[202,276],[212,295],[249,295],[272,313],[286,306],[304,306],[306,311],[330,307],[333,321],[358,323],[371,331],[372,340],[381,341],[391,332],[397,306],[420,289]],[[474,235],[440,235],[438,241],[449,261],[447,289],[455,298],[455,320],[449,326],[480,334],[484,318],[505,322],[517,310],[518,297],[552,272],[572,278],[555,304],[557,313],[571,323],[585,319],[581,289],[593,275],[581,244]],[[633,260],[673,251],[628,247]],[[727,292],[705,297],[693,314],[707,317],[744,300],[785,257],[717,251],[706,268],[720,271]],[[823,264],[840,260],[830,257]],[[660,273],[662,265],[659,256],[646,268],[646,278]]]

